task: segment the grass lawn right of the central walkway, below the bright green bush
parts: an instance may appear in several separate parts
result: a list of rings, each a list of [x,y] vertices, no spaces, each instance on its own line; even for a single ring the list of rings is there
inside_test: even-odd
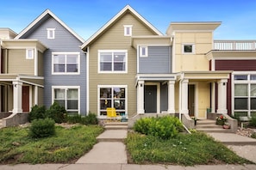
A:
[[[182,166],[253,163],[199,132],[191,135],[180,133],[169,140],[130,132],[126,144],[130,163]]]

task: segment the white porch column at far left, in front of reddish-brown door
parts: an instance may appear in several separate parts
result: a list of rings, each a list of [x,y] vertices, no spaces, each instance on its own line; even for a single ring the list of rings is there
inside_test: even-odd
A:
[[[22,112],[22,82],[12,82],[13,84],[13,113]]]

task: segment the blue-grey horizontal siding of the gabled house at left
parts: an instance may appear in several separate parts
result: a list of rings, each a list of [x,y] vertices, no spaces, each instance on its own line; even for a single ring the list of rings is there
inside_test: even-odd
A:
[[[44,53],[44,105],[52,105],[52,86],[80,86],[80,113],[86,113],[86,57],[79,46],[80,42],[65,27],[52,17],[44,18],[41,25],[32,28],[22,39],[39,39],[48,50]],[[55,28],[55,39],[47,39],[47,28]],[[79,75],[52,75],[52,52],[80,52]]]

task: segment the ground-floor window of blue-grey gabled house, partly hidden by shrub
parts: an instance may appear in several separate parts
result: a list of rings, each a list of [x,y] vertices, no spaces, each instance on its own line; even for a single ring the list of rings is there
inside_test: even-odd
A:
[[[78,87],[53,87],[53,101],[64,106],[70,114],[79,112]]]

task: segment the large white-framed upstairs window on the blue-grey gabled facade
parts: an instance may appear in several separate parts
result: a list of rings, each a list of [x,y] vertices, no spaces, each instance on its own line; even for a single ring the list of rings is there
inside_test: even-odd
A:
[[[53,74],[78,74],[79,52],[53,52]]]

